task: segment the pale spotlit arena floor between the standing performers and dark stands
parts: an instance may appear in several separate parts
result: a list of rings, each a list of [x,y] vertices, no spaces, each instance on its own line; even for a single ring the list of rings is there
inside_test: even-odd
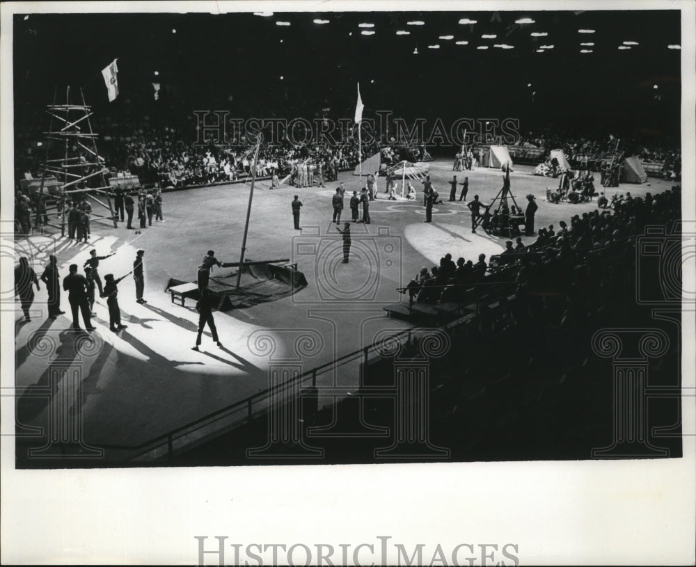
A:
[[[593,203],[551,205],[546,188],[556,179],[530,175],[532,168],[519,166],[511,173],[512,193],[525,206],[525,195],[536,196],[539,210],[537,227],[557,226],[594,208]],[[177,427],[189,424],[256,392],[269,388],[269,368],[278,361],[305,372],[330,363],[347,353],[359,351],[384,333],[408,328],[388,319],[383,305],[402,301],[396,291],[405,285],[421,266],[433,266],[445,253],[453,259],[462,256],[476,260],[503,250],[505,239],[490,237],[480,230],[472,234],[470,215],[463,202],[447,202],[452,176],[451,162],[436,161],[430,166],[434,186],[445,200],[433,209],[433,222],[424,223],[420,184],[416,202],[389,201],[384,195],[385,180],[379,179],[379,198],[371,203],[370,225],[353,224],[353,246],[349,264],[342,264],[340,235],[331,223],[331,195],[337,183],[326,189],[296,189],[283,185],[269,191],[269,182],[256,185],[246,258],[252,260],[290,258],[297,262],[309,282],[308,287],[271,303],[253,308],[216,312],[215,320],[223,349],[215,346],[206,332],[200,352],[191,350],[196,340],[198,314],[194,301],[187,306],[173,305],[164,287],[169,278],[195,280],[196,266],[209,249],[222,262],[239,259],[248,202],[248,185],[230,184],[164,194],[166,223],[135,234],[94,223],[87,244],[68,243],[65,239],[34,235],[15,242],[15,255],[27,255],[40,273],[47,256],[58,255],[61,278],[68,265],[81,266],[88,250],[99,255],[115,252],[102,262],[100,273],[116,277],[132,269],[136,250],[145,250],[145,298],[135,300],[134,282],[126,278],[119,285],[122,323],[127,329],[118,335],[109,331],[104,300],[97,301],[95,345],[73,348],[76,337],[68,331],[70,319],[46,319],[45,289],[38,292],[32,321],[24,323],[16,305],[15,348],[17,363],[17,419],[20,429],[45,426],[58,393],[61,403],[69,404],[72,415],[81,423],[82,441],[92,447],[109,447],[107,454],[119,459],[141,451],[119,451],[113,447],[144,447],[149,440]],[[459,181],[469,178],[468,198],[478,194],[489,202],[502,186],[499,170],[459,172]],[[342,173],[347,195],[359,189],[358,177]],[[599,183],[596,184],[599,186]],[[622,184],[619,193],[634,196],[647,191],[659,193],[672,184],[649,179],[646,184]],[[616,191],[611,189],[608,196]],[[297,194],[303,202],[302,231],[293,229],[290,202]],[[347,200],[346,200],[347,205]],[[342,220],[350,220],[346,207]],[[134,225],[137,225],[135,221]],[[525,243],[532,238],[525,238]],[[229,270],[227,270],[229,271]],[[225,273],[225,270],[217,272]],[[214,271],[213,275],[216,275]],[[61,299],[70,315],[67,295]],[[79,340],[78,340],[79,343]],[[78,344],[79,346],[79,344]],[[52,365],[63,361],[65,367],[79,369],[78,388],[53,378]],[[349,361],[319,376],[319,384],[345,386],[358,383],[358,362]],[[36,388],[53,388],[45,397],[35,397]],[[31,394],[31,395],[30,395]],[[255,406],[258,410],[263,404]],[[242,419],[246,406],[226,420],[210,424],[198,433],[205,435]],[[29,431],[29,429],[27,429]],[[144,444],[144,445],[143,445]],[[146,456],[149,458],[151,455]],[[50,461],[40,466],[52,466]]]

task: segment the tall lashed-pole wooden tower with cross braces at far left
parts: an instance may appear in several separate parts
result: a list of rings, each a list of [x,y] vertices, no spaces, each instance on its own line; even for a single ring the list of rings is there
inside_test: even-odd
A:
[[[61,235],[65,236],[65,204],[72,195],[85,195],[100,209],[107,209],[103,214],[90,216],[91,221],[109,221],[117,227],[116,214],[107,192],[104,158],[97,150],[98,134],[92,130],[90,116],[92,107],[87,106],[84,93],[80,89],[77,104],[70,102],[70,87],[65,92],[65,104],[56,104],[58,89],[54,93],[53,104],[47,106],[49,129],[44,132],[46,138],[46,157],[42,165],[40,198],[45,198],[44,184],[47,175],[55,175],[61,182],[60,193],[55,195],[56,209],[61,215]],[[98,198],[98,195],[103,195]],[[102,200],[104,199],[104,200]]]

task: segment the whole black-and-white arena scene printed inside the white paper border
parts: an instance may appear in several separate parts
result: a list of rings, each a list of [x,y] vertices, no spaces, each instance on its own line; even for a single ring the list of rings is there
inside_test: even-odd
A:
[[[682,456],[679,10],[12,29],[16,468]]]

